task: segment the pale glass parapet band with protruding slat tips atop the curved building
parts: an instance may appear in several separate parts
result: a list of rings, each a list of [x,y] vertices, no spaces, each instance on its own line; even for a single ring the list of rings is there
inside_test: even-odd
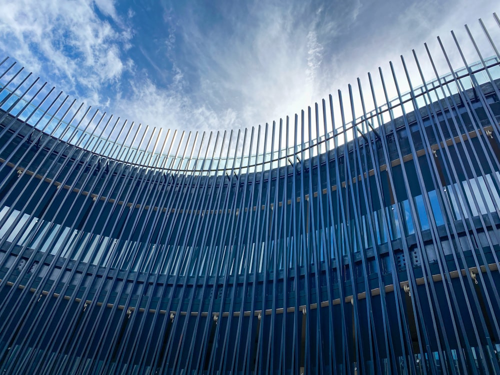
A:
[[[273,121],[271,126],[266,123],[264,126],[258,125],[256,128],[252,126],[236,131],[233,129],[216,132],[196,131],[194,135],[192,131],[167,129],[166,135],[163,136],[161,134],[163,128],[159,130],[153,128],[151,130],[148,126],[135,125],[134,122],[128,125],[127,120],[121,121],[119,117],[114,119],[112,114],[107,115],[105,112],[99,115],[98,110],[92,112],[91,107],[82,111],[82,108],[84,108],[83,103],[75,109],[76,100],[73,99],[69,104],[68,96],[61,99],[64,96],[62,92],[59,92],[52,103],[48,105],[50,99],[47,98],[50,95],[54,96],[54,88],[46,94],[43,100],[37,95],[43,91],[46,82],[34,95],[30,94],[30,89],[39,80],[39,78],[33,79],[31,73],[27,74],[21,82],[25,83],[25,81],[32,80],[28,90],[19,92],[20,83],[12,89],[10,86],[13,86],[15,78],[22,74],[23,68],[12,70],[15,68],[16,63],[6,64],[7,61],[10,61],[8,57],[0,63],[0,66],[4,67],[4,70],[0,73],[0,107],[9,113],[18,111],[16,118],[30,124],[34,122],[32,126],[43,133],[55,136],[64,142],[110,160],[125,161],[131,165],[156,170],[201,174],[220,174],[225,169],[243,169],[246,172],[262,171],[284,166],[288,162],[294,164],[298,161],[300,163],[301,160],[323,154],[326,150],[333,149],[348,141],[350,131],[357,130],[366,134],[368,131],[375,130],[385,122],[383,121],[384,116],[387,114],[389,114],[389,117],[392,116],[391,112],[393,110],[397,110],[407,102],[419,100],[424,94],[428,95],[429,92],[433,92],[440,87],[446,86],[449,93],[453,93],[453,88],[449,87],[450,83],[460,82],[463,85],[461,78],[471,76],[476,79],[476,84],[481,84],[483,82],[477,80],[477,73],[486,71],[489,74],[489,69],[500,65],[498,56],[474,62],[410,89],[396,98],[376,106],[375,109],[369,112],[364,111],[364,100],[361,94],[363,115],[357,116],[354,121],[345,121],[343,108],[341,108],[341,127],[333,128],[332,123],[334,123],[337,114],[334,111],[332,95],[330,94],[328,104],[324,99],[321,102],[322,118],[321,114],[318,113],[319,105],[315,103],[315,116],[311,114],[311,107],[308,107],[307,119],[305,119],[304,110],[301,111],[300,119],[299,115],[295,114],[291,125],[292,131],[289,131],[290,122],[292,121],[286,116],[284,121],[283,119],[279,120],[277,131],[276,123]],[[500,77],[500,69],[498,70],[498,76]],[[374,96],[375,93],[373,92],[373,84],[369,73],[368,76],[372,90],[371,94]],[[9,77],[8,81],[3,82],[2,80],[6,80],[7,77]],[[484,81],[488,80],[488,77],[484,76],[484,78]],[[393,75],[393,79],[395,79],[395,75]],[[357,78],[357,81],[359,84],[359,78]],[[351,111],[354,112],[350,85],[349,91]],[[386,91],[384,93],[386,96]],[[338,90],[338,95],[341,101],[340,90]],[[437,93],[436,97],[438,97]],[[61,102],[55,104],[57,100]],[[376,102],[376,98],[373,101]],[[35,102],[39,103],[35,105]],[[328,105],[329,113],[327,113],[326,109]],[[83,115],[81,115],[82,112]],[[61,115],[61,113],[63,114]],[[81,118],[78,117],[79,115],[81,115]],[[330,116],[329,121],[326,118],[328,115]],[[312,123],[313,121],[315,121],[315,124]],[[323,122],[322,126],[319,122]],[[104,125],[102,125],[103,123]],[[307,131],[304,131],[305,126],[308,127]],[[311,129],[312,126],[316,129]],[[132,131],[134,127],[135,131]],[[272,131],[269,131],[270,127],[272,127]],[[314,132],[321,134],[321,127],[323,128],[323,135],[305,139],[304,132],[307,134]],[[300,134],[297,134],[300,130]],[[177,135],[178,131],[181,131],[180,137]],[[262,132],[264,133],[263,139]],[[229,133],[228,136],[227,133]],[[236,135],[234,135],[235,133]],[[339,137],[340,135],[343,135],[343,137]],[[292,142],[290,137],[294,138]],[[207,142],[205,142],[206,138],[208,139]],[[226,141],[226,138],[228,138],[228,141]],[[241,138],[243,138],[242,144],[240,142]],[[249,143],[248,138],[250,138]],[[300,138],[301,141],[297,141],[297,138]],[[288,144],[287,147],[275,147],[276,143],[278,145],[283,144],[283,141]],[[272,148],[270,151],[268,150],[269,147]],[[195,154],[196,149],[197,154]]]

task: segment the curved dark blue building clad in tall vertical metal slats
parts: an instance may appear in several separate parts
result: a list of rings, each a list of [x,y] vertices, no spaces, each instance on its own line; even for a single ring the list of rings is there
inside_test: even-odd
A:
[[[1,371],[500,373],[500,56],[476,52],[166,135],[5,59]]]

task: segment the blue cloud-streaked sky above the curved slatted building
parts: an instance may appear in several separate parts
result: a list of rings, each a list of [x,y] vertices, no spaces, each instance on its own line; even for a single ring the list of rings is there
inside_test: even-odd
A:
[[[424,57],[424,41],[438,54],[437,35],[452,47],[450,29],[466,39],[468,23],[480,35],[479,17],[499,40],[491,0],[0,0],[0,8],[0,55],[87,104],[178,129],[292,116],[358,76],[364,84],[378,66],[390,74],[388,61],[410,59],[411,48]]]

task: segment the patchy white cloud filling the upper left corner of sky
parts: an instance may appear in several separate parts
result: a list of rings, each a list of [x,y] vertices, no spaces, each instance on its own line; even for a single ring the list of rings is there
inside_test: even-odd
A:
[[[112,1],[19,0],[2,4],[2,49],[43,78],[80,99],[105,101],[102,86],[133,65],[122,58],[131,31],[96,14],[118,19]]]

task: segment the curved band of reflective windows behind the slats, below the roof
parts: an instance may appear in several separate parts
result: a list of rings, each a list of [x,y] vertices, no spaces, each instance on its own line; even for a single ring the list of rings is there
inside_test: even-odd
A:
[[[442,204],[449,206],[454,220],[459,220],[462,216],[469,218],[470,215],[496,212],[495,203],[498,205],[500,202],[500,194],[496,186],[496,181],[499,179],[500,174],[495,172],[494,175],[479,176],[445,186],[440,191],[443,198]],[[437,191],[428,191],[426,194],[433,221],[437,226],[443,225],[445,216],[439,205]],[[118,240],[101,234],[80,232],[76,229],[70,233],[70,227],[43,220],[38,222],[38,218],[30,219],[28,214],[20,215],[18,210],[8,206],[0,209],[0,220],[3,221],[0,227],[0,238],[12,242],[19,236],[16,240],[17,245],[38,249],[41,252],[49,251],[52,255],[60,253],[62,257],[71,259],[80,258],[83,262],[95,265],[106,266],[109,261],[112,261],[113,268],[137,271],[152,268],[161,273],[186,274],[190,272],[192,274],[191,268],[197,267],[200,275],[205,272],[213,275],[215,273],[224,275],[226,272],[242,274],[245,271],[253,273],[264,271],[264,256],[267,261],[267,270],[273,270],[273,251],[277,252],[278,269],[283,269],[284,266],[293,268],[296,262],[298,266],[303,266],[306,258],[311,264],[314,263],[312,243],[319,243],[319,247],[314,249],[317,251],[316,256],[319,257],[319,261],[323,262],[328,256],[330,259],[335,259],[337,251],[346,255],[348,251],[359,251],[361,246],[363,248],[373,246],[372,236],[379,245],[387,242],[389,238],[391,240],[400,238],[401,228],[405,235],[413,234],[415,219],[418,220],[421,230],[429,229],[431,220],[429,220],[430,216],[423,196],[417,195],[412,199],[416,217],[413,217],[411,213],[409,201],[404,200],[398,203],[401,220],[398,217],[396,205],[393,204],[357,217],[358,225],[355,225],[356,220],[351,216],[348,223],[340,221],[325,228],[316,229],[314,232],[301,233],[300,236],[305,236],[303,240],[296,241],[293,236],[289,236],[284,239],[277,238],[277,242],[272,239],[258,244],[251,243],[248,248],[245,248],[245,244],[241,244],[239,251],[234,244],[229,245],[230,247],[224,245],[220,248],[221,263],[216,267],[217,269],[214,267],[216,258],[214,254],[217,254],[218,249],[210,251],[205,246],[204,250],[200,251],[198,246],[156,244],[148,244],[146,248],[143,243],[133,240]],[[19,235],[21,232],[22,234]],[[315,238],[318,238],[319,242]],[[161,256],[157,254],[160,248],[165,252]],[[111,256],[116,249],[120,250]],[[305,251],[308,252],[305,253]],[[194,253],[198,254],[196,258],[189,255]]]

